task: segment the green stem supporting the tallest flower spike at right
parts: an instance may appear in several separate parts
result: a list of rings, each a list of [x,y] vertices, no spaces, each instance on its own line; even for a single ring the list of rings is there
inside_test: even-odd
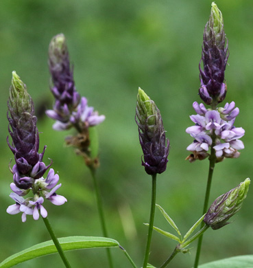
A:
[[[203,213],[205,214],[207,209],[208,209],[208,201],[210,197],[210,187],[212,183],[212,178],[213,178],[213,170],[215,169],[215,161],[216,161],[216,155],[215,155],[215,149],[213,148],[215,146],[215,139],[216,135],[213,133],[212,135],[212,145],[211,145],[211,151],[210,151],[210,157],[209,157],[209,172],[208,172],[208,179],[207,179],[207,184],[206,184],[206,196],[204,200],[204,208],[203,208]],[[204,221],[202,221],[200,225],[200,229],[204,227]],[[202,247],[202,240],[203,236],[200,236],[199,240],[197,241],[197,252],[195,256],[195,263],[194,263],[194,268],[197,268],[200,260],[200,252],[201,252],[201,247]]]

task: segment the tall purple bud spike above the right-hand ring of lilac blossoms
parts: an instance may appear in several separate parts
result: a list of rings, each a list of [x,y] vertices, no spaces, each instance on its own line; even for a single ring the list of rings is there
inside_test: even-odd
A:
[[[229,56],[226,40],[221,11],[213,2],[210,19],[204,29],[202,58],[199,65],[200,98],[208,105],[213,103],[216,105],[226,97],[224,76]],[[204,69],[201,67],[201,62]]]

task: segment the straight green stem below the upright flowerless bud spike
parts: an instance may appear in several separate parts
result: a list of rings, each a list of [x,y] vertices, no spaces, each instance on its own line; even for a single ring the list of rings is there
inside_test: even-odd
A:
[[[149,260],[149,249],[150,249],[151,238],[152,238],[155,210],[156,210],[156,175],[152,175],[152,199],[151,199],[151,209],[150,209],[150,217],[149,217],[149,230],[147,233],[147,244],[146,244],[145,255],[144,255],[144,260],[143,260],[143,268],[147,267],[147,262]]]

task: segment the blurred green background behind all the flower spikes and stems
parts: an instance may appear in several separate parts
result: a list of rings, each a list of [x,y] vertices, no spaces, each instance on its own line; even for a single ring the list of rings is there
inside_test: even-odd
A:
[[[252,179],[253,152],[253,2],[220,0],[230,57],[226,69],[227,102],[240,109],[235,125],[245,129],[245,149],[239,159],[226,159],[214,172],[210,202]],[[141,267],[149,220],[151,178],[141,166],[141,146],[134,122],[138,87],[155,100],[171,142],[167,171],[158,177],[157,203],[173,218],[182,233],[200,218],[208,160],[190,164],[186,146],[192,138],[192,103],[200,102],[198,64],[202,33],[208,21],[211,1],[197,0],[3,0],[0,3],[1,60],[1,180],[0,180],[0,261],[36,243],[49,240],[43,221],[5,212],[13,203],[8,197],[12,175],[8,164],[13,155],[5,138],[8,89],[15,70],[27,85],[38,115],[40,151],[47,144],[47,157],[59,172],[67,197],[65,205],[47,204],[49,220],[58,237],[101,236],[93,183],[86,166],[72,148],[64,148],[64,137],[72,132],[51,129],[44,107],[51,109],[47,48],[51,38],[62,32],[67,37],[77,91],[88,104],[106,115],[99,133],[101,166],[97,173],[108,218],[111,238],[115,238]],[[12,164],[14,164],[12,162]],[[239,254],[253,254],[253,191],[250,189],[233,223],[204,236],[201,263]],[[173,232],[160,212],[155,225]],[[154,232],[150,263],[160,265],[176,243]],[[192,267],[191,254],[179,254],[171,268]],[[130,263],[119,249],[112,250],[115,267]],[[68,252],[73,267],[107,267],[104,249]],[[62,267],[57,255],[38,258],[19,267]]]

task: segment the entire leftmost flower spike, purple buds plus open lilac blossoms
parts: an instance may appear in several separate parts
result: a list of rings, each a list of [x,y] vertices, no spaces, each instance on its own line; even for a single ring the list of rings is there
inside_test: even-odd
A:
[[[47,210],[43,207],[44,198],[55,205],[62,205],[67,201],[65,197],[56,194],[60,188],[59,176],[51,168],[47,178],[43,175],[51,166],[45,165],[43,153],[38,153],[39,136],[36,126],[37,118],[34,115],[34,104],[27,93],[25,84],[21,81],[15,71],[12,72],[12,85],[10,87],[10,98],[8,100],[8,121],[9,133],[12,137],[8,145],[14,154],[16,164],[10,169],[13,174],[13,181],[10,184],[12,193],[10,197],[16,202],[7,209],[9,214],[23,212],[22,221],[26,221],[26,215],[33,215],[34,219],[39,218],[39,212],[44,218]],[[29,192],[29,197],[23,197]]]

